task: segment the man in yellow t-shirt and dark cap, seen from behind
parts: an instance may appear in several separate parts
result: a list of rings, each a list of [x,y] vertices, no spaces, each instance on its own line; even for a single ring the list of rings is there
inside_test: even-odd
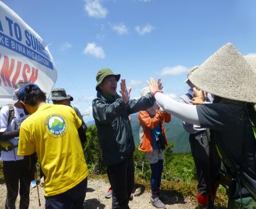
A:
[[[79,139],[85,135],[81,120],[69,106],[46,103],[46,94],[34,83],[23,85],[18,99],[30,114],[21,124],[18,155],[37,152],[46,209],[82,209],[88,170]]]

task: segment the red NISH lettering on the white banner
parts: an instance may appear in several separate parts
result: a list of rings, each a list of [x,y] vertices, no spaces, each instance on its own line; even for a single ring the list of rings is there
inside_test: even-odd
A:
[[[0,61],[1,61],[1,54],[0,54]],[[14,65],[17,62],[17,65],[14,69]],[[22,67],[23,66],[23,67]],[[19,82],[32,82],[35,83],[38,78],[38,69],[30,66],[27,63],[22,63],[21,61],[17,61],[13,58],[9,58],[8,56],[4,56],[3,65],[0,66],[1,70],[1,78],[3,84],[7,87],[15,87],[16,83]],[[11,79],[11,75],[13,78]],[[18,81],[18,78],[19,79]],[[2,81],[0,79],[0,86],[2,86]]]

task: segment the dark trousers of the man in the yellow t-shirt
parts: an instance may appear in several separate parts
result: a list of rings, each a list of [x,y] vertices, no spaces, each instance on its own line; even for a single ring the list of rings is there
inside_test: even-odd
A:
[[[46,209],[83,209],[87,190],[87,178],[82,180],[77,186],[61,194],[46,196]]]

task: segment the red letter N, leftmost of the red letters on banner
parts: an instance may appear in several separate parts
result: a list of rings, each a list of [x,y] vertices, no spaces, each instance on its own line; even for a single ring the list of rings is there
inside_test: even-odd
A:
[[[1,77],[3,79],[3,83],[5,83],[5,86],[11,87],[11,82],[10,82],[10,77],[11,74],[13,73],[13,68],[14,68],[14,59],[11,59],[11,65],[9,66],[9,57],[5,56],[3,60],[3,66],[1,69]]]

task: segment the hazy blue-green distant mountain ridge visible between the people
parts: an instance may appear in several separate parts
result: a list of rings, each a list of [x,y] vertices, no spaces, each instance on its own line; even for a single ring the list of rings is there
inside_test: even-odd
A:
[[[131,128],[136,144],[139,144],[139,123],[138,114],[131,115]],[[86,123],[87,126],[94,125],[94,120]],[[166,135],[169,141],[173,142],[174,152],[190,152],[189,134],[183,129],[182,121],[175,116],[171,117],[170,123],[164,123]]]

